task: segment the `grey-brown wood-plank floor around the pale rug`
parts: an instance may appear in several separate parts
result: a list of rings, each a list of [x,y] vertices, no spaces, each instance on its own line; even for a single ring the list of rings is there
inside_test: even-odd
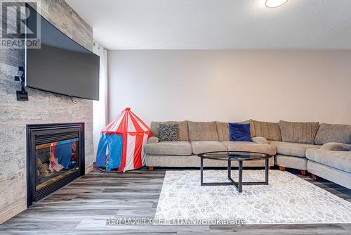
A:
[[[166,170],[94,170],[0,224],[0,234],[351,234],[351,224],[105,226],[108,218],[154,217]],[[351,202],[351,190],[293,174]]]

